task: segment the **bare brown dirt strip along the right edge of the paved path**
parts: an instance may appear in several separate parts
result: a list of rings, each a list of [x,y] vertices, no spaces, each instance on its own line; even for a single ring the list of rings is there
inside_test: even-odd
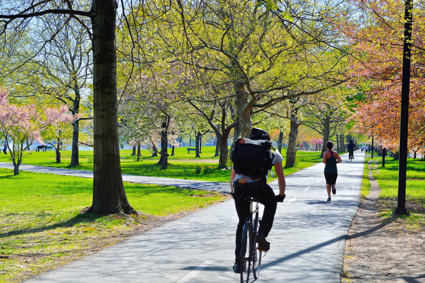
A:
[[[402,218],[378,217],[380,189],[370,169],[371,192],[351,223],[341,282],[425,283],[425,229],[408,229]]]

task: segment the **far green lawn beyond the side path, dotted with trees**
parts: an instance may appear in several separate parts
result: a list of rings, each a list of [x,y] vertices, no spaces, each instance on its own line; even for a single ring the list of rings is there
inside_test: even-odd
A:
[[[195,153],[187,153],[186,147],[176,148],[175,155],[168,158],[168,169],[162,170],[158,164],[159,157],[150,157],[152,154],[142,150],[142,158],[136,161],[136,156],[131,156],[131,150],[121,150],[121,169],[123,174],[143,175],[166,178],[179,178],[201,181],[227,182],[230,178],[230,170],[215,170],[218,166],[218,157],[214,157],[215,147],[202,147],[201,158],[195,158]],[[169,149],[169,153],[171,150]],[[286,158],[283,152],[283,158]],[[298,151],[295,167],[286,168],[285,174],[289,175],[302,168],[312,166],[320,162],[320,152]],[[10,157],[0,155],[0,161],[11,162]],[[61,163],[56,163],[54,150],[45,152],[31,152],[25,156],[23,164],[32,164],[49,167],[68,168],[71,163],[71,151],[61,151]],[[74,167],[79,170],[93,170],[93,151],[79,151],[80,165]],[[202,167],[202,168],[201,168]],[[195,173],[196,169],[200,173]]]

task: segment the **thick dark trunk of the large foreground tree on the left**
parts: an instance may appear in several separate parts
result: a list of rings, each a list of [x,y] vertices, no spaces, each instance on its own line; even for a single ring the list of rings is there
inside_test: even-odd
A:
[[[93,0],[93,204],[88,213],[136,214],[125,195],[119,158],[115,0]]]

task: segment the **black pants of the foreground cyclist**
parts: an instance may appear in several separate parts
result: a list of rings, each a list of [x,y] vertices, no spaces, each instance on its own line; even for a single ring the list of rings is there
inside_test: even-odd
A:
[[[261,218],[261,224],[258,228],[258,232],[262,232],[264,237],[267,237],[272,229],[277,202],[276,195],[268,184],[252,187],[234,187],[234,192],[235,207],[239,218],[238,228],[236,229],[235,249],[235,259],[236,262],[238,262],[241,251],[242,229],[244,228],[246,218],[249,217],[249,201],[244,198],[254,197],[258,202],[264,205],[263,217]],[[253,215],[252,217],[255,216]]]

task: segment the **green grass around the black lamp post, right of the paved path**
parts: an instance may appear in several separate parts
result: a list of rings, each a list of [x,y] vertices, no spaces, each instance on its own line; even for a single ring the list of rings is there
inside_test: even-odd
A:
[[[382,157],[366,158],[377,164],[372,171],[380,187],[380,215],[384,221],[392,221],[394,217],[405,219],[410,229],[425,226],[425,162],[420,159],[408,158],[406,173],[406,208],[411,215],[394,216],[391,213],[397,207],[398,197],[398,167],[399,162],[393,158],[385,159],[382,167]]]

